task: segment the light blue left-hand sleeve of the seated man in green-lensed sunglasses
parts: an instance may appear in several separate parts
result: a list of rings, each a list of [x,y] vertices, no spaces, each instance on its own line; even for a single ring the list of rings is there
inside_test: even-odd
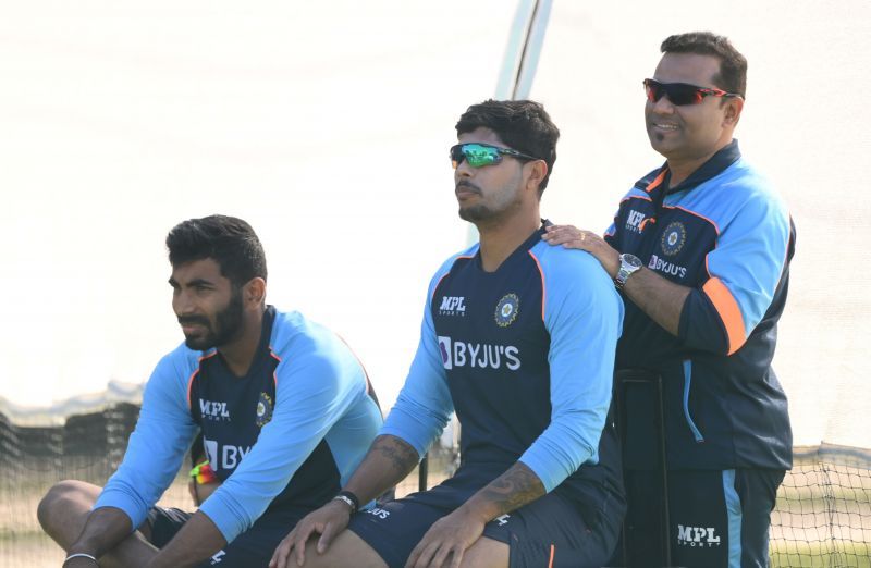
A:
[[[445,262],[430,282],[424,323],[420,325],[420,343],[405,385],[380,432],[404,440],[421,458],[442,433],[454,411],[430,304],[436,287],[451,270],[455,258]]]

